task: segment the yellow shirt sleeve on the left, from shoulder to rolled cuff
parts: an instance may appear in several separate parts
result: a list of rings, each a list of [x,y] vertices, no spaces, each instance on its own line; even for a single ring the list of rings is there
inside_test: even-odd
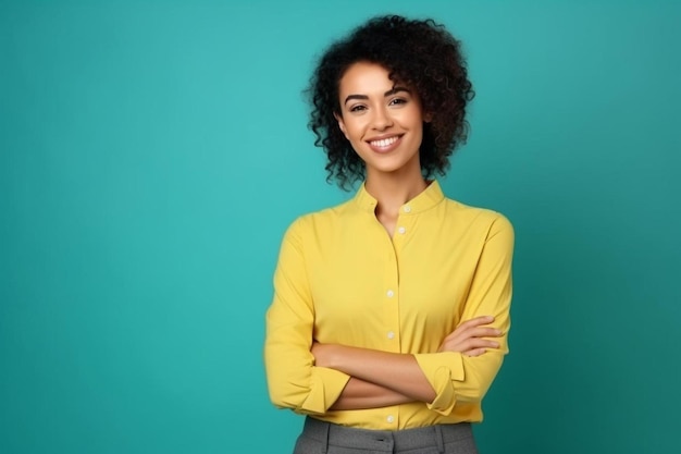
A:
[[[314,305],[302,247],[305,228],[305,219],[298,219],[284,235],[265,317],[264,363],[272,403],[313,415],[326,413],[350,377],[314,366],[310,353]]]

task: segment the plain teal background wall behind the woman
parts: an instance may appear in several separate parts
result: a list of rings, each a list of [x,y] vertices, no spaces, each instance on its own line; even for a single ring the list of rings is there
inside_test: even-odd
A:
[[[271,277],[349,197],[300,91],[384,12],[463,40],[443,186],[517,230],[481,452],[681,452],[679,2],[289,0],[0,2],[0,453],[290,452]]]

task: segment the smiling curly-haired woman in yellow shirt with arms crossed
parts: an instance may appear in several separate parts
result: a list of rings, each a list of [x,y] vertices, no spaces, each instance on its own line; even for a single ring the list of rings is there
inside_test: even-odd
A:
[[[467,134],[459,42],[375,17],[326,50],[308,93],[330,179],[363,184],[282,244],[265,367],[272,402],[308,415],[295,453],[475,453],[470,422],[508,352],[513,234],[432,180]]]

